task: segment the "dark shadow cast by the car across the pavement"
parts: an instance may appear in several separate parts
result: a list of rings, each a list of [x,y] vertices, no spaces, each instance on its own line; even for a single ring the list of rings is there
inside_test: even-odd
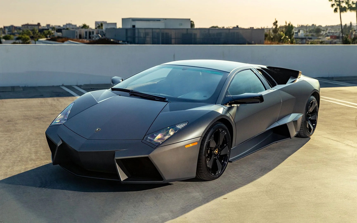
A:
[[[0,216],[4,222],[165,222],[257,180],[309,140],[294,138],[261,149],[229,163],[210,182],[125,185],[46,164],[0,181]]]

